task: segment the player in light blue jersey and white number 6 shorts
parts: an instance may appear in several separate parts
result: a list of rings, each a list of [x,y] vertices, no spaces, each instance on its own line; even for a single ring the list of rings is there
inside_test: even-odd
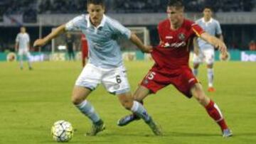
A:
[[[92,121],[92,131],[87,135],[96,135],[105,129],[105,125],[87,101],[87,96],[102,83],[105,89],[116,94],[122,106],[136,113],[151,128],[155,135],[161,135],[160,128],[144,109],[144,106],[132,99],[127,73],[122,62],[122,52],[117,40],[129,39],[143,52],[151,52],[151,46],[145,46],[141,40],[114,19],[105,16],[103,0],[89,0],[87,12],[55,29],[46,38],[38,39],[34,46],[42,46],[65,31],[80,30],[86,35],[89,46],[89,60],[75,82],[73,104]]]

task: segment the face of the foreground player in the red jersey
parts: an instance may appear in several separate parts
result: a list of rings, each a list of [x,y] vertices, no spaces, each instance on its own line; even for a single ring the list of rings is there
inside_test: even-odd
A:
[[[170,18],[171,24],[177,24],[183,19],[183,9],[176,8],[176,6],[168,6],[167,7],[167,15]]]

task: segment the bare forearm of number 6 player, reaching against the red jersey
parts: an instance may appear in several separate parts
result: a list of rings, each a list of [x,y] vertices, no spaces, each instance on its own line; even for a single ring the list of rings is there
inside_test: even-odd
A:
[[[139,40],[137,35],[134,33],[132,33],[130,40],[132,43],[134,43],[134,45],[136,45],[140,50],[142,50],[142,52],[149,53],[149,52],[152,52],[153,50],[152,46],[144,45],[142,43],[142,40]]]

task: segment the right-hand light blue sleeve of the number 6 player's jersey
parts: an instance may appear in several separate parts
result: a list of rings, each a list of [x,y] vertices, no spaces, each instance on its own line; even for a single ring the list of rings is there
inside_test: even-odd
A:
[[[120,24],[117,21],[111,21],[111,24],[113,26],[114,33],[116,33],[118,36],[121,36],[127,39],[131,38],[132,32],[128,28],[122,26],[122,24]]]

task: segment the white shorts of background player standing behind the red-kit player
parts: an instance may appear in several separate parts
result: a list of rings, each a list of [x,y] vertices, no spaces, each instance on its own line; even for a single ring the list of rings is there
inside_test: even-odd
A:
[[[206,62],[207,65],[212,65],[214,62],[214,49],[208,48],[205,50],[199,50],[199,54],[193,54],[193,63],[200,64]]]

